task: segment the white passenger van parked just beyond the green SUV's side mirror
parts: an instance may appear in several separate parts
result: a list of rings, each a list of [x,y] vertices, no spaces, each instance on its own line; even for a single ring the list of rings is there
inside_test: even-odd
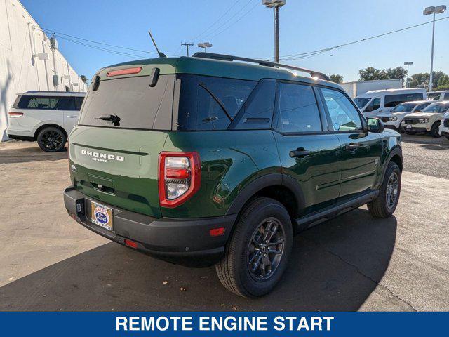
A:
[[[363,116],[368,118],[377,117],[382,112],[389,112],[398,104],[425,99],[426,89],[410,88],[368,91],[358,95],[354,102],[363,112]]]

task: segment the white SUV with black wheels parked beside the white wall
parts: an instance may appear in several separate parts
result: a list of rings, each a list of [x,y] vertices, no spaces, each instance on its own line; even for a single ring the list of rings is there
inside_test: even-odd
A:
[[[85,95],[63,91],[19,93],[8,112],[8,137],[37,141],[46,152],[64,149],[67,135],[78,121]]]

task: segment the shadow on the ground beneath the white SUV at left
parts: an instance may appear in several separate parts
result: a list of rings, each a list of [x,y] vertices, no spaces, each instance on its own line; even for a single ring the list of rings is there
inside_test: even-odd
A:
[[[36,143],[6,143],[0,148],[0,164],[67,159],[67,147],[61,152],[44,152]]]

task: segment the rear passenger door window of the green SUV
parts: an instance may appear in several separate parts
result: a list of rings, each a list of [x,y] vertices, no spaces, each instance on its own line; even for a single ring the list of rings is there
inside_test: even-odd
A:
[[[281,132],[322,131],[314,89],[302,84],[279,83],[277,125]]]

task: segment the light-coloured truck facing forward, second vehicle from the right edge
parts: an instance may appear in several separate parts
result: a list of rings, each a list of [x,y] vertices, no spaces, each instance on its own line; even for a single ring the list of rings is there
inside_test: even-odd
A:
[[[449,100],[432,103],[422,112],[408,114],[403,119],[403,131],[406,133],[430,133],[432,137],[439,137],[438,128],[443,114],[449,110]]]

